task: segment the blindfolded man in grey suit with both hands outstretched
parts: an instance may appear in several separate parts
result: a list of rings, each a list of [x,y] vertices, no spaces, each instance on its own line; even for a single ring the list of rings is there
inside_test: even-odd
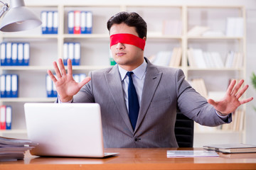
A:
[[[121,12],[107,21],[114,67],[90,72],[75,82],[72,63],[53,62],[48,74],[58,91],[58,103],[99,103],[105,147],[178,147],[174,135],[176,111],[201,125],[231,122],[248,86],[232,81],[220,101],[203,98],[185,80],[181,69],[159,67],[144,57],[146,22],[137,13]]]

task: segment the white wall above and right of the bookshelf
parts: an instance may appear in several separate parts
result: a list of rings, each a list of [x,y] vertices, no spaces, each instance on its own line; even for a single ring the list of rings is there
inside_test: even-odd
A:
[[[25,0],[25,4],[33,5],[33,4],[80,4],[85,3],[85,0]],[[150,0],[86,0],[87,4],[145,4],[145,5],[206,5],[206,6],[245,6],[247,9],[247,84],[250,83],[250,75],[252,72],[256,73],[256,1],[255,0],[158,0],[158,1],[150,1]],[[245,141],[249,144],[256,145],[256,111],[252,109],[252,106],[256,106],[256,89],[253,89],[250,86],[250,89],[247,91],[247,97],[253,96],[255,100],[251,103],[247,104],[247,113],[245,120]]]

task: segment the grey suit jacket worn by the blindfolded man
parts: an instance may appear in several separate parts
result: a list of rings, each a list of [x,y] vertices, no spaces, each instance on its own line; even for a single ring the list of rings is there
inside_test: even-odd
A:
[[[177,109],[201,125],[225,123],[206,98],[188,84],[181,69],[146,62],[135,130],[129,121],[117,65],[90,72],[91,81],[73,97],[75,103],[100,104],[105,147],[178,147],[174,135]]]

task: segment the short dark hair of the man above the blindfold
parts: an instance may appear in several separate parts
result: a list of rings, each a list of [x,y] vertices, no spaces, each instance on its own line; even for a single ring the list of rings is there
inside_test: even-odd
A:
[[[120,23],[125,23],[127,26],[135,27],[139,38],[146,37],[146,22],[138,13],[128,13],[123,11],[115,14],[109,19],[109,21],[107,21],[107,30],[110,31],[113,24]]]

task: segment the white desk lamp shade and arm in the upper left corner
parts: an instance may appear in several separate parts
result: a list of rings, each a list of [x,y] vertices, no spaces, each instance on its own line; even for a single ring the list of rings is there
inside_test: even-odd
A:
[[[2,4],[4,2],[0,1]],[[0,18],[5,14],[0,24],[0,30],[3,32],[16,32],[21,30],[30,30],[42,24],[40,19],[30,11],[23,0],[11,0],[11,8],[4,4],[0,11]]]

